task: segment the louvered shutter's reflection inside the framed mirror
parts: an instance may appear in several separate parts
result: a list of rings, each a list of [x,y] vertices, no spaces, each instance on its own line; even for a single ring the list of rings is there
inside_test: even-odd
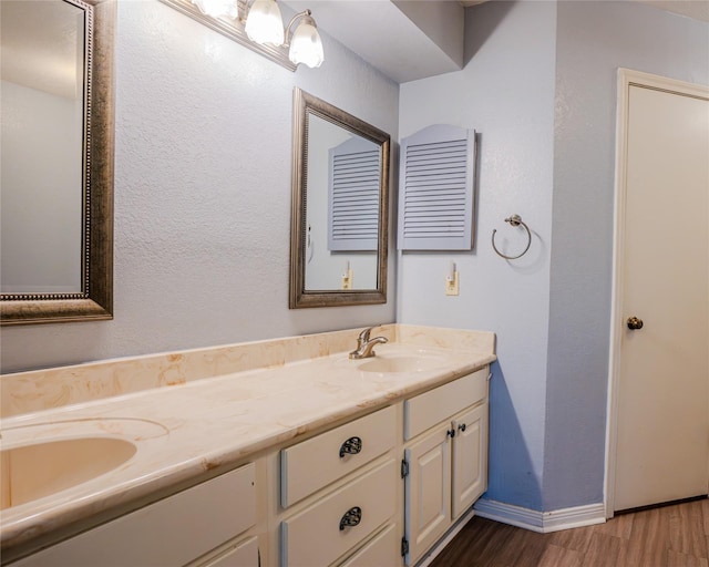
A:
[[[377,250],[379,235],[379,146],[352,137],[330,150],[328,248]]]

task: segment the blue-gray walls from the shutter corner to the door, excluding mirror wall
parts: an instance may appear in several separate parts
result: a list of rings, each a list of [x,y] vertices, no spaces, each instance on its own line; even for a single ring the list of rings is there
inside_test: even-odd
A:
[[[617,68],[709,83],[709,24],[626,1],[490,2],[466,10],[466,66],[401,87],[400,131],[480,136],[475,249],[404,252],[402,322],[490,329],[486,497],[555,511],[604,498]],[[532,248],[506,262],[490,235]],[[505,236],[501,236],[505,235]],[[508,241],[505,243],[505,238]],[[450,260],[461,295],[443,296]]]

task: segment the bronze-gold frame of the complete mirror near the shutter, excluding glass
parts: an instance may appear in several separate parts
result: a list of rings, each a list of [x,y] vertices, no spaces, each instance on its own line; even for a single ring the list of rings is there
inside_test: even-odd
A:
[[[379,234],[377,288],[353,290],[306,289],[306,197],[308,184],[308,118],[319,116],[380,148]],[[296,87],[294,91],[292,197],[290,215],[290,309],[338,307],[387,302],[387,255],[389,244],[390,136],[386,132]]]

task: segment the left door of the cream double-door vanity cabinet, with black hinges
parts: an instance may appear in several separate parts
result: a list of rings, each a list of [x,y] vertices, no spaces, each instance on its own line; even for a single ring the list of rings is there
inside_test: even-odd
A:
[[[451,443],[440,427],[404,451],[407,565],[413,565],[451,523]]]

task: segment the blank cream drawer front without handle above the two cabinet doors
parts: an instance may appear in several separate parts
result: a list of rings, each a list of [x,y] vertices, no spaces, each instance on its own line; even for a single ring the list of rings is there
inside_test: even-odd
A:
[[[449,420],[453,414],[473,405],[487,396],[487,367],[417,395],[403,403],[404,440],[436,423]]]

